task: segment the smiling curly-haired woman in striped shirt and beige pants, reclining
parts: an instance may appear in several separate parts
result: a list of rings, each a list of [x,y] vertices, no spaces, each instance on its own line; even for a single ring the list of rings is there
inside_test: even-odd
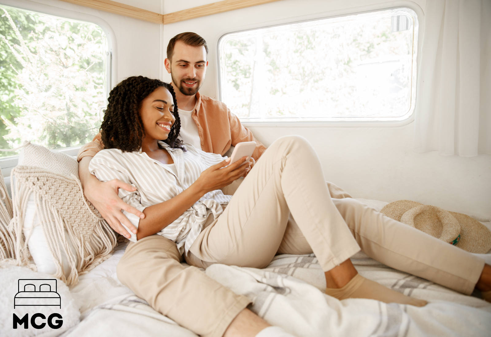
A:
[[[106,149],[89,169],[101,181],[136,187],[119,190],[145,213],[144,219],[126,214],[138,228],[132,241],[160,234],[177,243],[190,265],[205,268],[264,267],[276,253],[314,252],[331,296],[427,303],[361,277],[350,261],[361,247],[391,267],[491,297],[491,267],[481,259],[354,199],[331,200],[317,155],[303,138],[278,139],[250,170],[252,163],[241,166],[246,158],[225,167],[228,159],[182,144],[179,128],[170,85],[138,76],[111,91],[101,126]],[[245,175],[233,197],[219,190]]]

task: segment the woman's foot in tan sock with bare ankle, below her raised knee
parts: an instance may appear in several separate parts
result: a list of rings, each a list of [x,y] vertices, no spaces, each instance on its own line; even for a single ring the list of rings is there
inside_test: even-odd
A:
[[[358,274],[349,259],[326,272],[326,284],[327,295],[339,300],[369,298],[385,303],[409,304],[416,307],[423,307],[428,303],[364,278]]]

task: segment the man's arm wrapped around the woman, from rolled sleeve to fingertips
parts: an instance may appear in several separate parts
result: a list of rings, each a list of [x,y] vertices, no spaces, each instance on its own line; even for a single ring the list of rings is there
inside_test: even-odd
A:
[[[121,210],[125,210],[140,218],[144,218],[145,215],[125,203],[118,196],[119,188],[132,192],[135,191],[133,186],[117,179],[103,183],[95,175],[89,173],[90,160],[102,149],[101,134],[98,134],[92,142],[83,145],[79,151],[79,176],[83,187],[83,194],[99,213],[101,213],[101,216],[106,219],[113,230],[126,238],[130,238],[130,233],[121,224],[125,224],[133,233],[136,233],[136,227],[125,217]]]

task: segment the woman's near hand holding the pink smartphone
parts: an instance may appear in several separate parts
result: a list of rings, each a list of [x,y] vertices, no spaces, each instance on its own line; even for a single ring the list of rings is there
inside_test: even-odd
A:
[[[244,164],[247,157],[242,157],[235,163],[230,164],[225,168],[230,162],[230,158],[225,159],[221,163],[210,166],[201,172],[199,178],[194,182],[199,187],[201,193],[206,194],[210,191],[219,190],[234,180],[246,176],[247,172],[250,170],[250,163]]]

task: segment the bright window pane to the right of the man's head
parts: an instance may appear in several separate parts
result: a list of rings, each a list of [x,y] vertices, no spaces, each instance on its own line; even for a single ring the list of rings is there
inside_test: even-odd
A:
[[[246,121],[405,120],[417,34],[409,8],[229,33],[220,99]]]

